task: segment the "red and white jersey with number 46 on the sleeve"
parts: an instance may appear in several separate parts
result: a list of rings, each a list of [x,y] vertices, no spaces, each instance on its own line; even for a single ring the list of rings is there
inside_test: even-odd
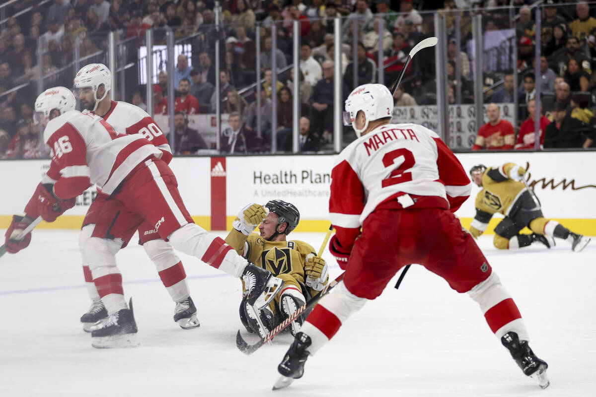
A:
[[[76,197],[92,184],[109,195],[141,161],[163,153],[141,135],[119,134],[103,118],[76,110],[49,121],[44,141],[52,162],[42,183],[54,184],[61,199]]]

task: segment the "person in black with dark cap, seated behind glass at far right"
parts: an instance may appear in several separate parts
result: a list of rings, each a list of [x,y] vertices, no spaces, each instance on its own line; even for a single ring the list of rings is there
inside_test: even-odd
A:
[[[544,133],[544,148],[589,148],[596,140],[594,127],[571,117],[567,107],[555,102],[552,123]]]

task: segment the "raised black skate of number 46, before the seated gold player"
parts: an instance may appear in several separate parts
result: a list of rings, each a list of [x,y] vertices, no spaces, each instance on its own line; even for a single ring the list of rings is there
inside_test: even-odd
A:
[[[255,308],[263,308],[269,304],[284,286],[284,281],[274,277],[271,271],[249,264],[242,273],[244,285],[249,291],[247,301]]]

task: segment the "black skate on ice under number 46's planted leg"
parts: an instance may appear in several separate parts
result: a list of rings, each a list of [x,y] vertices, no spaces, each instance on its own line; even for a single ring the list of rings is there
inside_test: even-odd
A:
[[[136,322],[132,310],[132,299],[128,309],[110,315],[103,327],[91,332],[91,346],[94,348],[136,348]]]

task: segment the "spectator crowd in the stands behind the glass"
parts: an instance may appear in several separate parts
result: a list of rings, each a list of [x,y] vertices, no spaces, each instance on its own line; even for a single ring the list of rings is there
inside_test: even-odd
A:
[[[596,55],[596,19],[591,16],[594,10],[583,2],[567,5],[545,1],[541,6],[542,32],[538,32],[544,56],[536,65],[535,8],[526,3],[530,1],[514,1],[518,15],[514,22],[503,17],[507,12],[481,11],[486,32],[508,29],[514,23],[519,47],[519,64],[514,72],[491,70],[493,79],[502,81],[502,85],[486,92],[486,102],[513,102],[517,98],[519,120],[524,121],[534,117],[530,106],[535,108],[535,86],[539,83],[541,108],[549,123],[564,104],[564,116],[555,124],[563,126],[560,129],[576,128],[579,124],[568,119],[579,120],[588,126],[582,127],[582,136],[593,140],[589,126],[593,124],[591,94],[596,87],[596,78],[591,74],[592,57]],[[168,83],[173,86],[171,114],[175,117],[178,154],[214,148],[215,143],[201,137],[200,129],[188,127],[188,117],[212,114],[218,99],[221,112],[229,118],[229,125],[222,127],[218,137],[224,152],[268,152],[272,139],[278,150],[291,150],[294,100],[299,101],[300,150],[331,150],[334,133],[342,133],[333,129],[334,101],[343,103],[355,86],[377,82],[380,68],[384,82],[393,81],[401,73],[410,49],[424,37],[434,35],[433,12],[424,11],[437,11],[436,2],[426,0],[222,0],[219,4],[219,26],[215,24],[213,0],[21,0],[7,5],[4,11],[8,18],[0,25],[0,157],[47,155],[33,123],[32,98],[40,87],[72,86],[73,62],[78,61],[75,53],[85,63],[107,64],[107,35],[116,32],[117,42],[128,50],[117,52],[117,62],[138,64],[138,47],[144,45],[147,30],[153,31],[156,45],[166,43],[168,31],[176,43],[188,45],[175,60],[173,76],[168,76],[165,65],[159,65],[161,71],[153,86],[153,112],[158,115],[170,114]],[[480,2],[483,7],[509,4],[501,0]],[[461,90],[461,103],[471,103],[473,73],[466,46],[471,38],[471,13],[459,10],[454,0],[443,1],[438,12],[445,16],[449,32],[445,60],[449,102],[454,103],[455,92]],[[336,49],[333,33],[338,15],[342,17],[342,45]],[[456,35],[457,15],[461,17],[461,32]],[[293,21],[300,23],[300,60],[296,69]],[[215,67],[218,42],[219,71]],[[342,60],[340,76],[334,73],[336,51]],[[396,105],[436,103],[434,52],[421,55],[405,71],[395,93]],[[257,58],[260,70],[256,70]],[[535,71],[537,66],[539,73]],[[147,90],[139,84],[138,68],[125,68],[122,76],[126,89],[119,90],[119,98],[114,99],[147,110]],[[520,82],[518,87],[514,86],[514,76]],[[342,80],[342,98],[334,97],[336,78]],[[293,92],[294,79],[298,80],[297,93]],[[576,92],[588,96],[577,96]],[[530,105],[532,101],[534,105]],[[495,119],[493,107],[488,108],[492,109],[489,120],[501,123],[498,114]],[[492,123],[489,121],[489,126],[479,132],[475,149],[518,147],[520,142],[524,147],[531,145],[530,123],[524,121],[523,134],[520,127],[516,137],[518,126],[512,126],[513,137],[507,129],[502,139],[496,140],[490,132],[501,124]],[[551,133],[564,135],[560,130]],[[549,147],[548,134],[543,135],[547,138],[544,147]],[[568,142],[564,147],[585,146],[585,142],[579,146],[569,146],[576,143]]]

